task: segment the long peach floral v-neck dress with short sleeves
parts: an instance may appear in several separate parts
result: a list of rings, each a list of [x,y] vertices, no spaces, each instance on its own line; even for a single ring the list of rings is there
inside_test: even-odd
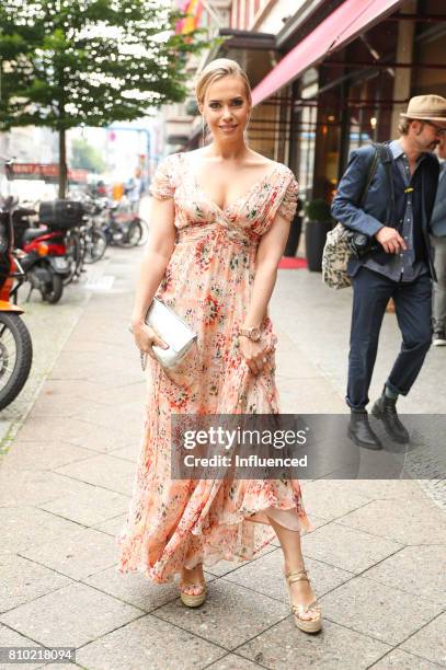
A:
[[[247,561],[275,538],[270,519],[311,528],[297,480],[171,480],[172,414],[276,414],[276,336],[262,324],[267,363],[254,376],[239,349],[255,275],[256,250],[277,212],[293,220],[297,183],[272,163],[270,173],[225,209],[204,193],[187,153],[164,159],[153,197],[173,198],[176,240],[157,298],[197,333],[173,370],[148,358],[146,420],[128,516],[117,535],[119,573],[171,581],[183,565]]]

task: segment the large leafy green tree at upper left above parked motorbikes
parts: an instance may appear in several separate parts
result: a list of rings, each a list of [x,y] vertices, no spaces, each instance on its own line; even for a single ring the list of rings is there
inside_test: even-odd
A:
[[[208,46],[175,34],[165,0],[3,0],[0,130],[59,132],[59,197],[67,186],[66,132],[150,114],[182,101],[186,57]]]

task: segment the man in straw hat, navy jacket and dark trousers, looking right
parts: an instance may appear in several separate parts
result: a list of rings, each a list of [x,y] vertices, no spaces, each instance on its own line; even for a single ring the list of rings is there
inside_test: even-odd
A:
[[[373,414],[390,437],[407,442],[398,417],[399,394],[407,395],[432,343],[432,280],[436,279],[430,241],[431,215],[438,182],[433,151],[446,132],[446,100],[412,97],[401,114],[400,138],[385,145],[364,197],[373,146],[352,152],[333,200],[332,215],[346,228],[368,235],[374,244],[348,263],[353,314],[346,402],[348,435],[359,447],[381,449],[366,411],[368,389],[387,303],[393,298],[402,346]]]

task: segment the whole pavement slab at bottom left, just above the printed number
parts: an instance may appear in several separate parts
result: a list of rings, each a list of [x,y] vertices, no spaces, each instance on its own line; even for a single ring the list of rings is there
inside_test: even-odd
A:
[[[80,647],[141,615],[84,584],[71,584],[1,614],[0,622],[48,647]]]

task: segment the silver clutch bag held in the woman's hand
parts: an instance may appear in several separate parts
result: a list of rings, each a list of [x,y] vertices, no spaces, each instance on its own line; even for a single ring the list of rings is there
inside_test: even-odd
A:
[[[145,321],[169,345],[169,349],[152,346],[152,351],[163,368],[174,368],[197,339],[197,334],[158,298],[153,298]],[[141,367],[145,370],[147,354],[140,354]]]

